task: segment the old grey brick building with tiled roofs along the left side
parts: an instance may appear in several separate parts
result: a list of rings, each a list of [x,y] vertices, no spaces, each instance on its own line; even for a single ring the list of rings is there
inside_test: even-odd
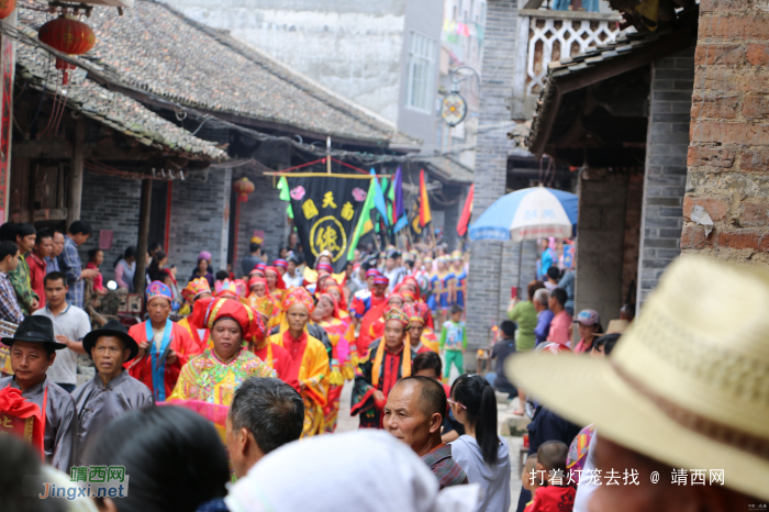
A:
[[[19,23],[34,37],[44,21],[44,14],[23,10]],[[89,70],[88,88],[66,107],[90,115],[93,107],[89,101],[98,103],[104,94],[119,98],[126,107],[96,113],[97,121],[101,120],[105,127],[101,132],[89,129],[86,133],[87,145],[96,147],[86,154],[81,192],[64,197],[63,182],[58,182],[59,192],[56,187],[52,190],[62,198],[57,203],[59,210],[44,208],[44,215],[48,215],[45,219],[48,223],[66,225],[67,214],[77,210],[77,216],[89,221],[96,235],[80,247],[83,253],[102,244],[102,234],[111,238],[102,266],[105,279],[112,278],[112,263],[125,247],[136,245],[145,198],[148,199],[147,241],[163,244],[183,285],[200,251],[212,254],[214,270],[225,268],[227,261],[237,266],[257,230],[265,232],[268,255],[277,257],[279,247],[286,243],[289,224],[286,204],[279,200],[272,178],[264,172],[319,158],[328,136],[333,151],[375,156],[403,155],[419,143],[399,133],[394,124],[339,98],[258,49],[193,22],[166,4],[140,0],[124,15],[119,15],[116,10],[94,11],[88,23],[96,31],[98,43],[92,52],[75,60]],[[27,46],[20,46],[21,54],[27,52],[24,49]],[[33,59],[35,87],[47,87],[49,94],[44,94],[48,102],[43,103],[40,124],[47,122],[45,114],[56,88],[53,78],[46,82],[51,58],[44,48],[35,52],[43,53]],[[27,70],[22,74],[18,87],[24,87],[27,75]],[[76,73],[79,79],[81,75]],[[30,101],[24,115],[34,116],[32,104],[36,105],[36,98]],[[142,148],[152,140],[143,133],[129,137],[122,152],[99,152],[107,131],[120,132],[120,136],[114,136],[122,137],[147,124],[137,122],[142,119],[163,124],[165,152],[155,148],[153,158],[146,157]],[[23,164],[32,168],[43,157],[58,157],[63,160],[62,179],[66,181],[73,174],[68,166],[73,152],[66,147],[71,136],[65,131],[43,144],[36,141],[34,130],[19,133],[14,154],[35,157]],[[313,143],[320,149],[310,149]],[[43,145],[46,147],[41,148]],[[59,153],[54,155],[52,151]],[[200,164],[196,164],[196,151],[201,153]],[[395,165],[388,169],[394,170]],[[436,171],[434,167],[427,168]],[[19,181],[15,189],[22,190],[29,179],[24,172],[15,174]],[[242,177],[248,177],[256,191],[248,202],[236,203],[232,183]],[[35,187],[40,183],[35,182]],[[38,221],[26,202],[21,201],[11,213],[19,219]],[[52,218],[52,213],[58,216]]]

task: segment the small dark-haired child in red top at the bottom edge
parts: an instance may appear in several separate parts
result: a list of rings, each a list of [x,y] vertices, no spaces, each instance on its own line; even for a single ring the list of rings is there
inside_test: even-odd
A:
[[[571,512],[577,489],[569,485],[566,457],[569,447],[560,441],[543,443],[537,450],[537,471],[545,472],[545,481],[534,493],[534,501],[525,512]]]

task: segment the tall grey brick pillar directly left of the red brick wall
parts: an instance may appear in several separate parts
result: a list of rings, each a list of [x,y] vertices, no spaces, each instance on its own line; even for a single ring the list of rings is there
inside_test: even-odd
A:
[[[653,65],[638,258],[638,307],[681,254],[694,48]]]

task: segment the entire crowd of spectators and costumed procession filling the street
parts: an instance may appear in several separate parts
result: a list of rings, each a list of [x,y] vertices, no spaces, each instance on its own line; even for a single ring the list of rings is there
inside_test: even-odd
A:
[[[727,307],[733,281],[749,289],[751,300],[766,299],[767,276],[696,258],[676,264],[646,305],[655,315],[638,324],[628,304],[604,329],[593,310],[575,315],[573,271],[558,268],[545,241],[540,260],[551,261],[546,280],[528,285],[527,300],[511,302],[491,347],[495,371],[482,376],[464,372],[467,259],[460,253],[389,247],[357,252],[337,268],[328,254],[308,265],[288,249],[301,251],[296,240],[269,263],[253,242],[244,276],[232,268],[213,274],[211,255],[202,252],[179,290],[166,253],[154,246],[147,319],[130,329],[110,320],[92,330],[78,305],[83,281],[97,293],[104,287],[97,283],[103,254],[89,252],[85,268],[79,259],[77,246],[90,232],[78,221],[57,242],[57,233],[36,233],[27,224],[0,226],[0,308],[2,320],[15,326],[0,340],[8,353],[0,421],[27,432],[25,442],[0,436],[3,466],[24,468],[0,478],[2,510],[668,510],[680,503],[680,489],[668,483],[651,494],[656,482],[642,475],[632,483],[638,488],[626,492],[638,498],[645,489],[654,507],[636,500],[633,507],[642,505],[633,508],[601,485],[601,471],[624,469],[627,479],[631,465],[662,469],[675,485],[679,465],[715,461],[690,454],[687,443],[714,449],[739,476],[732,487],[688,491],[692,503],[710,507],[696,510],[737,510],[732,505],[747,505],[748,496],[766,494],[754,483],[760,479],[738,464],[760,466],[749,458],[755,454],[740,450],[759,446],[761,437],[749,446],[735,445],[743,437],[731,434],[715,438],[724,428],[751,434],[698,400],[707,396],[724,405],[745,399],[738,390],[728,394],[728,382],[711,389],[711,377],[740,350],[760,353],[758,342],[725,331],[711,316]],[[120,287],[133,283],[136,257],[129,248],[116,261]],[[684,300],[692,287],[695,296]],[[758,312],[742,314],[746,325],[762,325]],[[707,329],[682,323],[692,318]],[[673,348],[683,354],[700,338],[725,346],[721,337],[742,348],[723,348],[733,353],[704,361],[711,377],[692,377],[686,357],[664,355]],[[94,368],[80,386],[78,354]],[[449,385],[453,368],[459,377]],[[336,431],[346,382],[361,431],[328,435]],[[672,382],[700,388],[660,396],[660,386]],[[500,393],[519,399],[515,414],[531,416],[517,505],[511,446],[498,434]],[[688,408],[695,422],[683,421]],[[671,423],[666,414],[681,421]],[[688,436],[705,439],[684,443]],[[130,492],[71,502],[19,492],[30,471],[66,487],[67,476],[76,482],[81,468],[94,466],[124,468]]]

